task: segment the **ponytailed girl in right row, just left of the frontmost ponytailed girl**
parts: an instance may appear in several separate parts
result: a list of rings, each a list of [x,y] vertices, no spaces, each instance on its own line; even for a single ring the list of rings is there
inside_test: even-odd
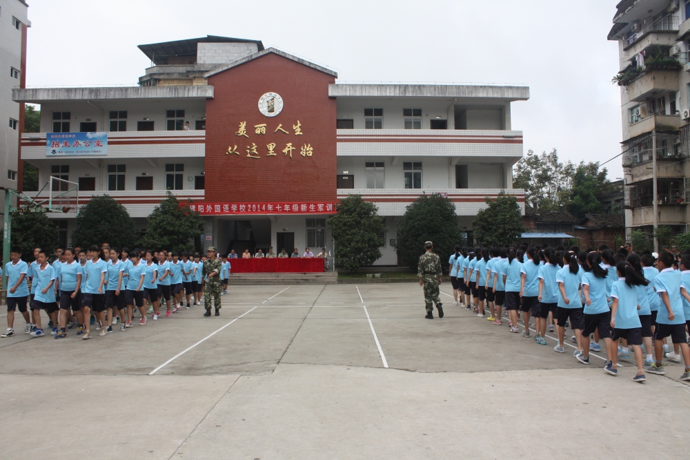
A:
[[[576,356],[582,364],[589,364],[589,350],[599,351],[598,338],[604,339],[609,360],[615,353],[611,341],[611,310],[607,301],[607,269],[602,267],[598,252],[587,254],[588,270],[582,274],[582,294],[584,294],[584,321],[582,326],[582,354]],[[589,336],[595,334],[595,342],[590,345]]]

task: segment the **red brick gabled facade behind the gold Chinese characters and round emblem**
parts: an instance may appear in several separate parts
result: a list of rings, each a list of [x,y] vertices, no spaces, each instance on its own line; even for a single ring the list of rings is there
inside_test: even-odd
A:
[[[208,78],[215,88],[206,102],[206,200],[210,202],[335,201],[336,101],[328,97],[335,77],[266,54]],[[275,117],[259,112],[259,98],[277,93],[283,109]],[[302,135],[293,126],[299,120]],[[246,122],[246,136],[236,135]],[[266,124],[266,134],[254,125]],[[279,124],[288,132],[275,132]],[[283,153],[288,142],[292,157]],[[256,144],[258,158],[248,157]],[[275,156],[267,144],[275,143]],[[312,156],[303,156],[309,144]],[[226,154],[228,146],[237,153]]]

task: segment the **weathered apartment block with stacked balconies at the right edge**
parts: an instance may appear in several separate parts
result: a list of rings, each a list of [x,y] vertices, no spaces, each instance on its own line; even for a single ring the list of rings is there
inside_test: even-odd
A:
[[[618,41],[625,226],[687,231],[690,211],[690,0],[624,0]]]

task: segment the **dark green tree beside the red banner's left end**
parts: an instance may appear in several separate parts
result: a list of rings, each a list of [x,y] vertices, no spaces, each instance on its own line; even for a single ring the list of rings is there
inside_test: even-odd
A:
[[[194,237],[201,233],[202,222],[199,213],[192,211],[189,204],[180,204],[168,191],[168,198],[161,201],[146,218],[146,236],[139,245],[148,249],[168,251],[193,251]]]

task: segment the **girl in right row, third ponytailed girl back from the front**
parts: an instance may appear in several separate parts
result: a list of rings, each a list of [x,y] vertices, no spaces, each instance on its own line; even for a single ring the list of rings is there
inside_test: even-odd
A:
[[[563,253],[563,263],[563,268],[556,273],[559,294],[558,322],[556,323],[558,343],[553,347],[553,351],[564,352],[565,323],[570,320],[570,326],[575,331],[575,338],[578,341],[578,348],[575,349],[573,356],[578,356],[582,353],[582,323],[584,320],[582,301],[580,300],[580,282],[582,281],[580,279],[580,265],[575,254],[569,251]]]

